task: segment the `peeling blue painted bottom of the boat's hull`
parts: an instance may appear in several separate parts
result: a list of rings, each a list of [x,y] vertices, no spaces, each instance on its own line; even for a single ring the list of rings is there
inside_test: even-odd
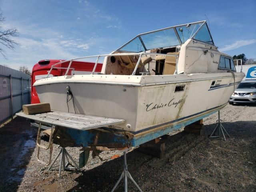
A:
[[[134,133],[134,137],[130,140],[124,136],[124,131],[113,130],[111,128],[104,128],[104,131],[101,131],[100,129],[79,131],[67,128],[66,133],[74,140],[76,146],[106,146],[108,148],[136,147],[140,144],[173,132],[174,130],[178,130],[186,125],[192,124],[193,122],[214,114],[221,108],[224,108],[226,104],[190,115],[188,117],[180,118],[172,122],[168,122],[171,124],[170,126],[166,125],[167,127],[158,129],[156,131],[154,129],[146,129],[144,132],[140,131]],[[165,124],[159,125],[155,129],[164,125]]]

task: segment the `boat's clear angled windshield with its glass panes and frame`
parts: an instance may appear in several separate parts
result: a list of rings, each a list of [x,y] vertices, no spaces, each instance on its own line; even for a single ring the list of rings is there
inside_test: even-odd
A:
[[[173,47],[184,44],[190,38],[214,45],[206,21],[202,21],[139,34],[116,51],[144,52]]]

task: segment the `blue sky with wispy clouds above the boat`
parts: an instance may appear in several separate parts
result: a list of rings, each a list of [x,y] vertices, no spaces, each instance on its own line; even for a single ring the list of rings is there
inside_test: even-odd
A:
[[[176,3],[177,4],[176,4]],[[18,69],[42,59],[70,59],[116,50],[139,33],[209,19],[219,50],[256,59],[256,0],[0,0],[3,28],[20,46],[0,64]]]

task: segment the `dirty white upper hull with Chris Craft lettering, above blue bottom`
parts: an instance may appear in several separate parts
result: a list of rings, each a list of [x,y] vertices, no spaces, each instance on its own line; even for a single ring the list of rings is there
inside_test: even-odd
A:
[[[234,84],[231,73],[129,76],[125,81],[128,76],[76,75],[44,79],[34,86],[40,102],[63,112],[68,112],[66,86],[70,86],[77,113],[124,119],[115,128],[139,134],[224,106],[244,74],[235,76]],[[175,92],[176,86],[184,90]],[[72,101],[68,104],[74,113]]]

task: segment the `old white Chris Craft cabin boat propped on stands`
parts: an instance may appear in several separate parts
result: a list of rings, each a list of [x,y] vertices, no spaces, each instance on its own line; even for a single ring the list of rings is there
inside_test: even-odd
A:
[[[96,60],[91,74],[68,73],[73,61],[88,58]],[[67,61],[65,75],[50,77],[59,62],[34,83],[40,102],[73,118],[121,120],[83,130],[63,126],[72,146],[82,147],[135,147],[196,122],[224,108],[244,78],[218,50],[206,21],[138,34],[110,54]]]

